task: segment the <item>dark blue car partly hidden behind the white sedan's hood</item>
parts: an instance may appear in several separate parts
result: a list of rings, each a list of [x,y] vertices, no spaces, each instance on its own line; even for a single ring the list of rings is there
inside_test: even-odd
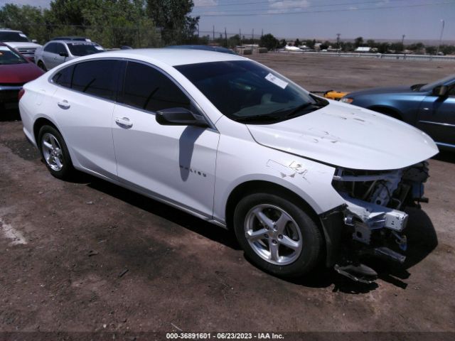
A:
[[[455,75],[411,87],[378,87],[341,99],[425,131],[440,148],[455,151]]]

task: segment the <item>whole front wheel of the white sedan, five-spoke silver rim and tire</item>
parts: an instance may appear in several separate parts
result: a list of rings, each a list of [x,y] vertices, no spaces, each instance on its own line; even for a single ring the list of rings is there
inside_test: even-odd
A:
[[[322,256],[323,238],[316,222],[277,195],[256,193],[240,200],[234,229],[252,263],[276,276],[304,275]]]

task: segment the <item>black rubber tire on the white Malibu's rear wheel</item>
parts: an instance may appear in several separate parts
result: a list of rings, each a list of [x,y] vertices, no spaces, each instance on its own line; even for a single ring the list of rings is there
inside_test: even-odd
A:
[[[44,141],[49,141],[48,138],[53,136],[57,143],[55,144],[55,155],[49,158],[49,148],[45,146]],[[55,142],[55,141],[54,141]],[[53,126],[42,126],[38,133],[38,148],[41,153],[41,158],[50,174],[62,180],[69,180],[74,174],[73,163],[71,162],[70,152],[65,144],[65,140],[60,132]],[[47,152],[46,152],[47,151]],[[60,162],[61,167],[56,163]],[[54,163],[54,165],[53,165]],[[54,167],[53,167],[54,166]],[[60,168],[60,169],[58,169]]]

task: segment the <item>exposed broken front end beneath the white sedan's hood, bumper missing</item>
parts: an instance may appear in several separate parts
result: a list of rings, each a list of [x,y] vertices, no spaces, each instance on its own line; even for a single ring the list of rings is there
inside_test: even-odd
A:
[[[346,201],[343,210],[343,261],[338,273],[355,281],[371,283],[375,271],[360,264],[360,256],[380,256],[403,263],[407,249],[403,233],[408,215],[405,207],[428,202],[424,194],[428,163],[394,171],[355,171],[337,168],[333,188]]]

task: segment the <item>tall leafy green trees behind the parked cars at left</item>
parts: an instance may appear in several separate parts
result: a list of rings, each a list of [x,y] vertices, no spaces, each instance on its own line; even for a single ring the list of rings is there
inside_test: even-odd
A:
[[[199,17],[192,0],[53,0],[49,9],[5,4],[0,27],[23,31],[38,43],[85,36],[105,48],[196,43]]]

